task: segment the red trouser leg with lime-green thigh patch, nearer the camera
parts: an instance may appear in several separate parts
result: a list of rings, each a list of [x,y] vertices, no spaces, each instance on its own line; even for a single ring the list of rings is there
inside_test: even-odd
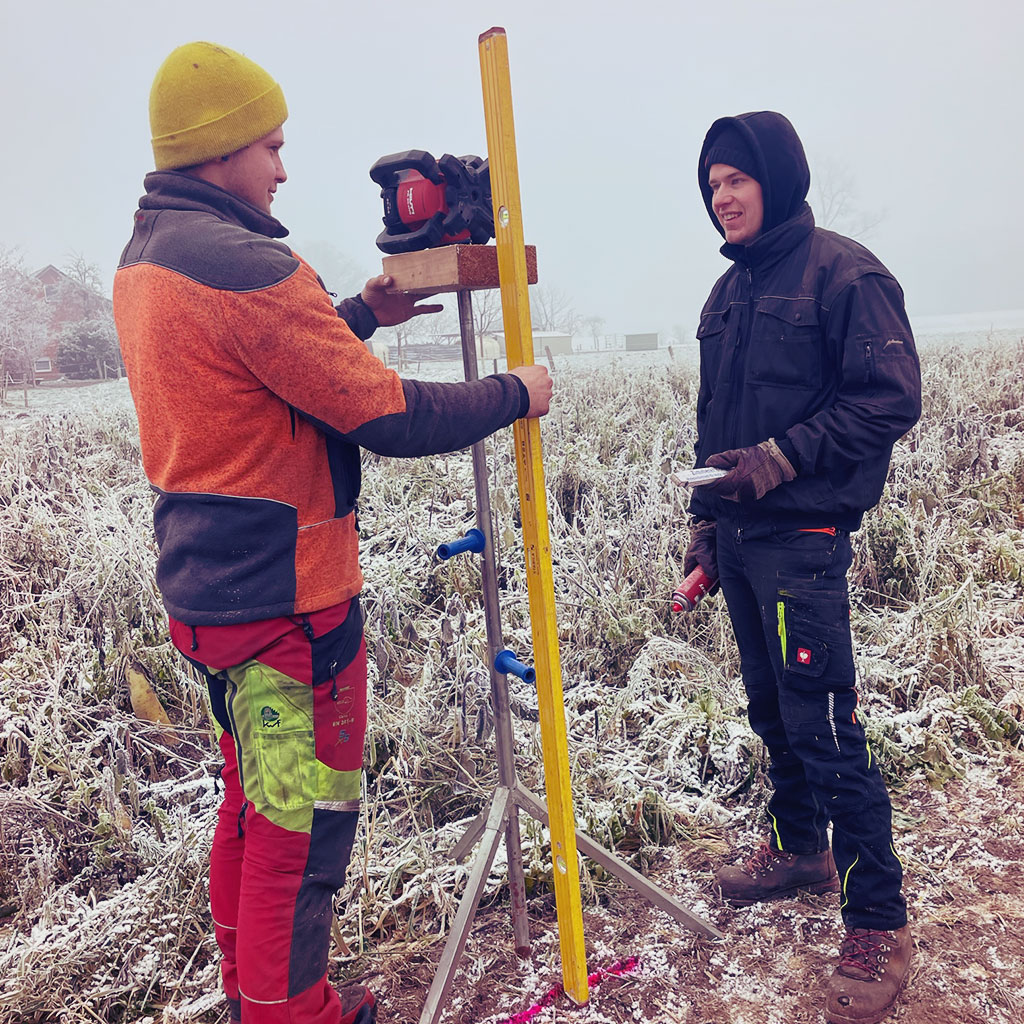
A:
[[[358,819],[366,647],[316,686],[257,662],[225,674],[246,801],[233,950],[242,1019],[341,1024],[327,967],[332,897]]]

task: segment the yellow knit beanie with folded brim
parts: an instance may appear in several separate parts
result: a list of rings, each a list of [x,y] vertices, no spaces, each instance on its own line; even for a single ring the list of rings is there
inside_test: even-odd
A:
[[[204,164],[285,123],[281,86],[247,56],[215,43],[186,43],[160,66],[150,92],[158,171]]]

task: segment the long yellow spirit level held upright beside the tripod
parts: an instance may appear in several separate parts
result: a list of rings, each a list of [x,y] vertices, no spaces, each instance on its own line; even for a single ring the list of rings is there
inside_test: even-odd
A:
[[[487,128],[490,195],[498,242],[498,278],[505,322],[505,352],[509,369],[534,361],[534,331],[526,291],[526,250],[523,244],[519,165],[512,122],[512,85],[509,48],[504,29],[480,36],[480,76],[483,80],[483,117]],[[569,753],[562,701],[562,673],[555,622],[555,586],[551,572],[548,502],[544,488],[541,421],[516,420],[516,472],[526,549],[526,585],[534,632],[534,667],[541,713],[544,780],[551,829],[551,859],[558,911],[558,941],[562,954],[562,984],[575,1002],[589,998],[587,952],[584,947],[580,869],[577,860],[575,815],[569,783]],[[511,851],[510,851],[511,856]]]

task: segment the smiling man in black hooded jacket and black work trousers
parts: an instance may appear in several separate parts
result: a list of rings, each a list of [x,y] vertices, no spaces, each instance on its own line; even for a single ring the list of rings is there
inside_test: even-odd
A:
[[[721,583],[773,783],[768,839],[718,880],[736,906],[841,891],[828,1020],[865,1024],[895,1001],[911,939],[889,796],[856,715],[846,574],[850,532],[921,415],[921,370],[896,280],[814,226],[784,117],[716,121],[697,173],[732,266],[697,331],[696,465],[727,472],[694,489],[685,567]]]

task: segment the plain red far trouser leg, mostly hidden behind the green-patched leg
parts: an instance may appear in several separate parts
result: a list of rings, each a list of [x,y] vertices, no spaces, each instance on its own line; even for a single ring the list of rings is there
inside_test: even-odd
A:
[[[239,783],[234,740],[224,732],[221,733],[218,744],[224,757],[224,767],[220,773],[224,783],[224,798],[217,811],[217,826],[210,850],[210,910],[213,914],[214,935],[220,948],[220,975],[224,995],[230,1008],[231,1020],[240,1020],[242,1011],[239,1002],[236,938],[246,843],[242,817],[245,798]]]

